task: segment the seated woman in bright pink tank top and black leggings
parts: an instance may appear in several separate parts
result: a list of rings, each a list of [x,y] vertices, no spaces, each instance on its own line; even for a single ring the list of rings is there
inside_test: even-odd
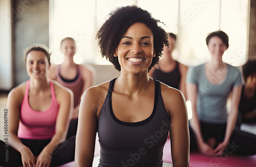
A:
[[[72,96],[48,81],[50,54],[46,49],[30,47],[25,61],[30,80],[8,95],[9,157],[8,162],[1,158],[0,165],[57,166],[72,161],[75,136],[65,141]],[[5,144],[0,145],[4,148]]]

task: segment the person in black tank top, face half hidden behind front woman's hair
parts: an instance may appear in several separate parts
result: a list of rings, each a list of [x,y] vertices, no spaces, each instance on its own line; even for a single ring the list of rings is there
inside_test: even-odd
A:
[[[176,35],[168,33],[168,41],[169,47],[163,47],[163,58],[159,60],[158,66],[155,65],[148,72],[148,76],[180,90],[186,99],[185,78],[187,66],[173,60],[172,52],[176,45]]]

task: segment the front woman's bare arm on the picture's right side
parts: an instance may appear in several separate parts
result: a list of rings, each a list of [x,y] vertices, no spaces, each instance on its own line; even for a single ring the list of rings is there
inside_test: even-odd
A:
[[[170,117],[173,165],[188,166],[189,132],[185,99],[180,91],[173,88],[168,87],[162,90],[164,106]]]

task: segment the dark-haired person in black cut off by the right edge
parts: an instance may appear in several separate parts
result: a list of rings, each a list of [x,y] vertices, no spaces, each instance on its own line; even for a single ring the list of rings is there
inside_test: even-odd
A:
[[[240,99],[239,112],[243,123],[256,123],[256,60],[243,65],[245,83]]]

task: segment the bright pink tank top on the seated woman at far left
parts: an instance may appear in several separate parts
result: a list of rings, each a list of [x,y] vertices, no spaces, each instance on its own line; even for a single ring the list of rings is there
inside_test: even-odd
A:
[[[45,111],[36,111],[30,107],[29,86],[30,80],[27,81],[25,95],[20,107],[18,137],[32,140],[52,138],[55,133],[55,123],[59,109],[54,85],[50,82],[51,105]]]

